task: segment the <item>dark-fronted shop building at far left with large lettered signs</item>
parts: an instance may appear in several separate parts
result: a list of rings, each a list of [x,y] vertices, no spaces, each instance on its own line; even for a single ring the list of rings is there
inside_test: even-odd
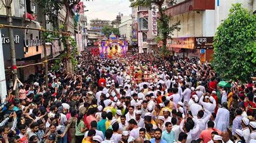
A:
[[[0,1],[0,24],[7,24],[6,9]],[[13,19],[13,25],[40,28],[45,23],[39,20],[37,17],[35,20],[28,19],[26,13],[33,12],[33,15],[38,15],[38,6],[34,0],[17,0],[11,3],[11,15]],[[9,45],[9,34],[7,28],[2,28],[2,44],[3,44],[3,55],[4,55],[4,68],[11,67],[10,61],[10,45]],[[41,32],[37,30],[22,30],[14,28],[14,39],[15,39],[15,53],[17,66],[26,66],[33,63],[40,62],[43,53],[43,44],[41,39]],[[51,51],[48,51],[48,54]],[[35,74],[40,69],[39,66],[28,66],[24,68],[18,68],[17,74],[21,81],[27,80],[30,74]],[[6,71],[6,81],[11,83],[11,71]],[[10,84],[7,84],[7,87]]]

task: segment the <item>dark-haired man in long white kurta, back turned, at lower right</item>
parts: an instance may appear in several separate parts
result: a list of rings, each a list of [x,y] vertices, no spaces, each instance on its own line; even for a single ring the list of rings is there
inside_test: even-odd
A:
[[[227,103],[223,103],[223,108],[219,108],[215,123],[216,123],[216,128],[220,130],[221,132],[227,131],[227,128],[230,127],[230,111],[228,111],[227,108]]]

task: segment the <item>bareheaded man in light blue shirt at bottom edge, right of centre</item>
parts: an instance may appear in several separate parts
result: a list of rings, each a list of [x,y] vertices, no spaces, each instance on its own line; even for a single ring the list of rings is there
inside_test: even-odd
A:
[[[172,123],[169,121],[165,123],[166,130],[162,133],[161,139],[164,139],[168,143],[174,142],[174,132],[172,131]]]

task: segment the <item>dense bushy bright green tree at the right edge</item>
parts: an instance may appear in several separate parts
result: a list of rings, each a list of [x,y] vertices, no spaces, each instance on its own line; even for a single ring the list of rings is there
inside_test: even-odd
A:
[[[233,4],[214,37],[213,69],[224,80],[248,81],[256,72],[256,16]]]

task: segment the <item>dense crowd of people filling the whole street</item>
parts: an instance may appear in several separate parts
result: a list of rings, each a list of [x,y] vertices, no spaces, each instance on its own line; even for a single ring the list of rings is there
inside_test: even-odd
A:
[[[256,83],[226,81],[196,59],[90,50],[30,76],[1,105],[1,142],[256,142]],[[224,69],[225,70],[225,69]]]

